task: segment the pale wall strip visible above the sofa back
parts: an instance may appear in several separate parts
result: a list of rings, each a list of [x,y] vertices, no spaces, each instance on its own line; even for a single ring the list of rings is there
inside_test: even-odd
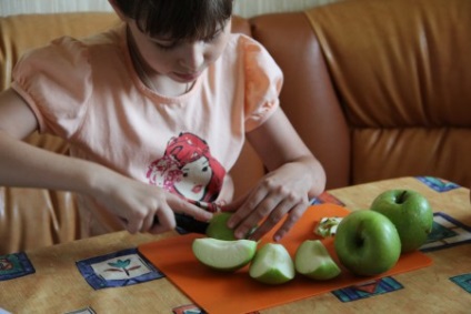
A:
[[[249,18],[268,12],[303,10],[334,1],[234,0],[234,13]],[[111,7],[108,0],[0,0],[0,16],[69,11],[111,11]]]

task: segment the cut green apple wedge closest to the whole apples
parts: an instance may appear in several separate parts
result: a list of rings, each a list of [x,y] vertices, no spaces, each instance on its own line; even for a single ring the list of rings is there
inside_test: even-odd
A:
[[[305,240],[298,246],[294,269],[304,276],[320,281],[334,278],[341,273],[340,267],[319,240]]]

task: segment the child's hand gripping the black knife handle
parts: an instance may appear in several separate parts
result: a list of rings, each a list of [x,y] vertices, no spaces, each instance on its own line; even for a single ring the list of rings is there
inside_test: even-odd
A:
[[[186,214],[199,221],[209,221],[212,217],[210,212],[161,188],[124,176],[108,182],[110,186],[94,190],[92,196],[118,216],[130,233],[161,233],[173,230],[174,213]]]

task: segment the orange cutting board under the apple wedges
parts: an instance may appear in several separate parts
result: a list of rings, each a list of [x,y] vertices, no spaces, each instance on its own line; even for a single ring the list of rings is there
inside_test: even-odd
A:
[[[345,216],[349,212],[334,204],[313,205],[280,243],[294,256],[297,247],[304,240],[322,240],[313,233],[322,217]],[[274,230],[277,227],[261,240],[259,247],[271,242]],[[139,251],[208,313],[243,314],[260,311],[373,278],[413,271],[432,263],[432,260],[421,252],[413,252],[403,254],[392,270],[374,277],[358,277],[342,269],[342,274],[334,280],[311,281],[297,274],[293,281],[272,286],[252,280],[249,276],[249,266],[234,273],[224,273],[200,264],[192,253],[191,244],[194,239],[201,236],[203,235],[187,234],[151,242],[140,245]],[[330,237],[322,242],[339,263],[333,240]]]

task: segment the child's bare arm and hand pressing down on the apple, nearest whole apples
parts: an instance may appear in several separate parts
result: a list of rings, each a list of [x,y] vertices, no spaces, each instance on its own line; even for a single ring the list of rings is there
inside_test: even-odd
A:
[[[229,226],[236,226],[236,236],[243,237],[267,217],[251,236],[260,239],[288,214],[274,234],[279,241],[301,217],[309,201],[323,192],[325,173],[281,109],[247,136],[270,172],[248,196],[224,209],[237,211]]]

